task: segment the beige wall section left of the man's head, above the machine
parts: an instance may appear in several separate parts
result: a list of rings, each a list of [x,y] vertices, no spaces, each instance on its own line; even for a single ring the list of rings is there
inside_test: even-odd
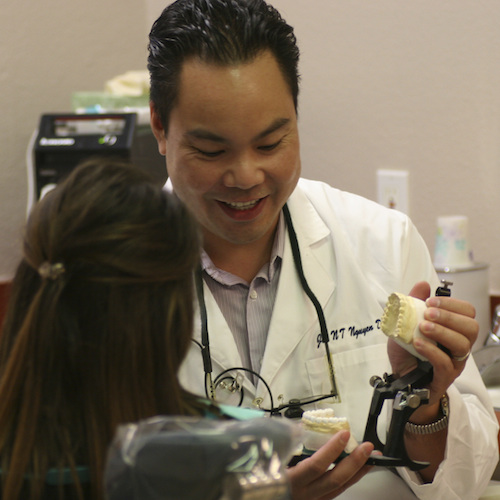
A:
[[[145,0],[21,0],[0,7],[0,280],[12,276],[25,219],[26,146],[40,115],[71,110],[75,90],[102,90],[145,69]]]

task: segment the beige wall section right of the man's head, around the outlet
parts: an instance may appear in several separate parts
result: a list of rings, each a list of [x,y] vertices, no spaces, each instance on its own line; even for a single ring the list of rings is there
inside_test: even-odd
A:
[[[376,197],[410,172],[410,215],[470,219],[500,293],[500,2],[275,0],[302,49],[303,174]]]

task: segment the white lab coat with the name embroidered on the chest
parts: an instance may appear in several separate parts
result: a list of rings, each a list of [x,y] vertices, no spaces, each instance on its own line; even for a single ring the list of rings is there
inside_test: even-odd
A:
[[[421,236],[399,212],[305,179],[299,181],[288,206],[304,274],[324,310],[331,332],[329,346],[342,399],[333,407],[338,416],[349,419],[353,435],[361,440],[372,396],[369,379],[372,375],[390,373],[387,339],[379,329],[387,297],[396,291],[407,294],[422,280],[435,289],[438,278]],[[204,295],[213,373],[217,376],[224,369],[242,366],[242,362],[233,335],[206,286]],[[199,316],[195,325],[194,336],[200,341]],[[318,343],[318,334],[316,311],[300,285],[287,238],[260,372],[271,387],[275,405],[281,400],[288,402],[330,392],[324,345]],[[202,358],[194,344],[180,377],[187,389],[204,394]],[[245,405],[251,406],[254,397],[260,397],[262,407],[269,408],[269,396],[262,382],[255,387],[245,377],[244,390]],[[420,485],[414,473],[402,470],[405,480],[421,499],[477,498],[498,460],[496,418],[472,359],[450,388],[449,397],[447,458],[434,482]],[[380,422],[384,422],[385,413]],[[390,486],[395,482],[401,484]],[[393,491],[388,488],[397,487],[403,488],[408,498],[415,498],[388,471],[368,474],[358,483],[357,493],[356,487],[351,488],[339,498],[385,499]],[[362,493],[365,491],[369,496]]]

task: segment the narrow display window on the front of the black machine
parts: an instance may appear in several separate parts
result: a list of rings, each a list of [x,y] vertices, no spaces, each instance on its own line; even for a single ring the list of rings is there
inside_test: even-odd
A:
[[[120,135],[125,128],[125,118],[116,117],[60,117],[54,120],[54,135],[68,137],[77,135]]]

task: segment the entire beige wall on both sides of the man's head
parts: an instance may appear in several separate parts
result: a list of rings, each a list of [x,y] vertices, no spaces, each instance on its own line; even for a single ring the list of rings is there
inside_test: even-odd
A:
[[[11,3],[0,16],[0,276],[17,260],[25,147],[39,115],[142,69],[149,25],[168,2]],[[500,2],[274,5],[302,49],[304,175],[375,199],[378,168],[409,170],[410,215],[431,252],[436,217],[467,215],[500,293]]]

